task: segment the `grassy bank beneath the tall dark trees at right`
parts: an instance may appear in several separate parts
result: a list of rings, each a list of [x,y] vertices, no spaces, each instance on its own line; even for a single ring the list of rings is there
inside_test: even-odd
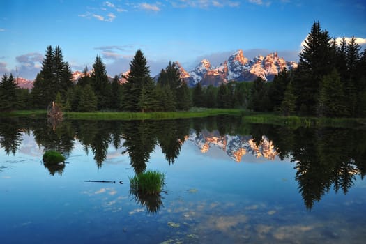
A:
[[[304,127],[342,127],[353,128],[355,126],[365,126],[364,118],[324,118],[310,116],[282,116],[278,114],[248,114],[243,116],[245,123],[264,123],[273,125],[286,125],[291,128]]]

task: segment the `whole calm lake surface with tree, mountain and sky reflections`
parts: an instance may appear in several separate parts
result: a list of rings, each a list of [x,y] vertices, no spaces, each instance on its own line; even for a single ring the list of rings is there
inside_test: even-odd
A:
[[[0,144],[3,244],[365,243],[365,128],[0,119]],[[146,169],[164,191],[130,195]]]

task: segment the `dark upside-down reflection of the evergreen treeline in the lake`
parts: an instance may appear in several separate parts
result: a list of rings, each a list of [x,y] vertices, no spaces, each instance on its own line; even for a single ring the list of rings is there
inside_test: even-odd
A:
[[[204,129],[218,131],[222,136],[250,135],[257,145],[266,136],[281,160],[291,158],[307,209],[332,188],[346,194],[356,176],[363,178],[366,174],[366,130],[248,124],[232,116],[166,121],[63,121],[55,130],[47,126],[46,120],[0,119],[0,144],[7,154],[15,154],[22,144],[23,133],[32,132],[39,147],[59,151],[67,158],[77,140],[86,153],[91,149],[98,167],[105,162],[109,146],[123,147],[123,153],[129,155],[132,168],[139,174],[146,169],[156,146],[161,148],[169,165],[174,164],[188,135],[199,135]],[[61,175],[64,167],[47,169],[52,175]],[[134,197],[151,213],[158,211],[162,203],[160,198]]]

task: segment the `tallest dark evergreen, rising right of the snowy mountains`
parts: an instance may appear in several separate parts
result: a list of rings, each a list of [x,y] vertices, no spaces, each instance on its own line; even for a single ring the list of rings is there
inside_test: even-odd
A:
[[[299,54],[300,61],[293,84],[298,107],[306,107],[307,113],[314,114],[317,109],[321,79],[335,66],[332,56],[333,47],[328,31],[322,30],[319,22],[314,22]]]

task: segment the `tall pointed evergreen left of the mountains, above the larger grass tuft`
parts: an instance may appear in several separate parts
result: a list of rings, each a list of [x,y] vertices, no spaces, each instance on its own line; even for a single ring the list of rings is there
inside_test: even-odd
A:
[[[151,86],[153,81],[150,77],[150,70],[146,66],[146,58],[141,50],[137,50],[130,63],[130,74],[127,83],[123,85],[123,109],[132,112],[141,111],[139,107],[139,98],[142,89],[145,86],[146,96],[152,95]]]

